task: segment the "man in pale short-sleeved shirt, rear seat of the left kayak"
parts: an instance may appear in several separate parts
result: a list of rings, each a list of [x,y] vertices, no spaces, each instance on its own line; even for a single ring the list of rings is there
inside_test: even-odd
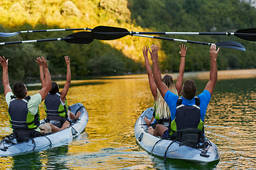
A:
[[[7,106],[9,107],[10,127],[13,129],[14,135],[18,142],[27,140],[31,137],[36,137],[43,133],[39,128],[39,112],[38,105],[43,101],[51,89],[50,72],[48,71],[48,64],[44,57],[41,57],[43,72],[46,76],[45,86],[33,96],[27,96],[28,89],[23,82],[18,81],[14,84],[13,90],[9,84],[8,76],[8,59],[0,57],[1,67],[3,67],[3,86],[4,96],[6,98]],[[50,128],[44,126],[44,128]],[[53,128],[53,131],[56,129]],[[58,130],[58,129],[57,129]]]

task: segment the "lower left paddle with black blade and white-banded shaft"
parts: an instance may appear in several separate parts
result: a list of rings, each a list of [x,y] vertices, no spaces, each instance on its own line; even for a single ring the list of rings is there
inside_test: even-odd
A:
[[[90,44],[94,40],[93,34],[90,32],[78,32],[73,33],[65,38],[51,38],[51,39],[41,39],[41,40],[23,40],[23,41],[14,41],[14,42],[0,42],[0,45],[10,45],[10,44],[20,44],[20,43],[28,43],[28,42],[45,42],[45,41],[58,41],[58,40],[64,40],[68,43],[74,43],[74,44]]]

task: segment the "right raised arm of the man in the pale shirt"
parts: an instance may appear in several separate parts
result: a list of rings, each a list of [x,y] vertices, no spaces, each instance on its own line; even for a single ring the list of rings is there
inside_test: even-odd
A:
[[[41,94],[42,101],[46,98],[48,93],[51,89],[51,79],[50,79],[50,72],[48,70],[48,64],[44,57],[41,57],[42,64],[43,64],[43,73],[45,75],[44,86],[42,87],[41,91],[38,93]]]

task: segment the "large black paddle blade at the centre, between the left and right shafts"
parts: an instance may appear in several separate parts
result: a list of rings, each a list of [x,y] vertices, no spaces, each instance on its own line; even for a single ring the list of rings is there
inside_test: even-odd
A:
[[[116,40],[129,35],[129,31],[125,28],[117,28],[110,26],[97,26],[92,29],[97,40]]]

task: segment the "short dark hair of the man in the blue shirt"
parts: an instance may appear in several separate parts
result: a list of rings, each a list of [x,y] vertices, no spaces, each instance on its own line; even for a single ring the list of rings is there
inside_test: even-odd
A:
[[[193,80],[187,79],[184,81],[182,87],[182,96],[188,100],[191,100],[196,96],[196,84]]]

